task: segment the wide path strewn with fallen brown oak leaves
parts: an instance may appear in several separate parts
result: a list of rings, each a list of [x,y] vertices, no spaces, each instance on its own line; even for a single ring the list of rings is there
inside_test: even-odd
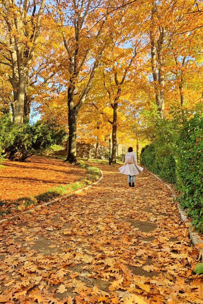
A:
[[[117,166],[100,184],[1,226],[0,303],[203,303],[198,250],[170,191]]]

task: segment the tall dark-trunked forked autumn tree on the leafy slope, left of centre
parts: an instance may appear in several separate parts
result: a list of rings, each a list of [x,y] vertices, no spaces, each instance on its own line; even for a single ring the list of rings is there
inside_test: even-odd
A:
[[[97,9],[99,5],[104,9]],[[104,25],[107,20],[110,2],[79,0],[70,2],[57,0],[57,10],[67,58],[64,61],[68,95],[68,157],[67,161],[76,161],[76,123],[77,115],[92,87],[93,77],[103,55],[106,45]],[[66,10],[72,11],[68,16]],[[102,16],[104,14],[104,16]],[[102,20],[100,22],[100,19]],[[104,17],[104,18],[103,18]],[[57,14],[56,14],[57,18]],[[82,91],[78,91],[78,83],[82,82]],[[81,88],[81,86],[80,86]]]

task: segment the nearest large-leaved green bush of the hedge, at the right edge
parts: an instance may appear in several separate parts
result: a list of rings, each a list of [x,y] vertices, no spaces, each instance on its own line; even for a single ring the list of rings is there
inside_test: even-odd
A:
[[[203,114],[184,124],[177,142],[178,200],[203,233]]]

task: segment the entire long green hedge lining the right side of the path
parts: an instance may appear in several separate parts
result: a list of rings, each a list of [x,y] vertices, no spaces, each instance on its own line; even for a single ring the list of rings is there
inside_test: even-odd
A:
[[[159,122],[156,140],[142,149],[141,164],[176,186],[178,201],[203,233],[203,114],[182,126]]]

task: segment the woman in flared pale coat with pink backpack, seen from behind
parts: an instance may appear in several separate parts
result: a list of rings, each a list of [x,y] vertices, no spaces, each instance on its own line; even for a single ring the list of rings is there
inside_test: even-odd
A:
[[[129,187],[135,187],[135,175],[143,171],[143,168],[138,166],[136,155],[133,152],[133,148],[128,148],[128,153],[125,154],[125,164],[118,168],[121,174],[128,175]],[[132,185],[131,185],[132,177]]]

